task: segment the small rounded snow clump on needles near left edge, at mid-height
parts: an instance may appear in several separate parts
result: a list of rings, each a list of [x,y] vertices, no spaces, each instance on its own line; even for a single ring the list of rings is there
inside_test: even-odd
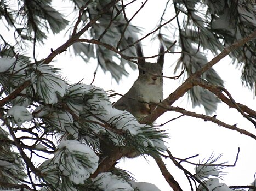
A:
[[[12,116],[12,126],[14,126],[14,124],[17,124],[18,127],[20,127],[25,121],[30,121],[33,118],[33,116],[30,114],[29,111],[27,111],[24,106],[18,105],[14,105],[12,108],[10,108],[7,111],[6,116]]]

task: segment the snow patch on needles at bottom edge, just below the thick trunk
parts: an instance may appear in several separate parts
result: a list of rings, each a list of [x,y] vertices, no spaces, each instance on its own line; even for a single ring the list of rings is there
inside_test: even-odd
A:
[[[111,172],[100,173],[93,182],[104,191],[134,191],[128,182]]]

